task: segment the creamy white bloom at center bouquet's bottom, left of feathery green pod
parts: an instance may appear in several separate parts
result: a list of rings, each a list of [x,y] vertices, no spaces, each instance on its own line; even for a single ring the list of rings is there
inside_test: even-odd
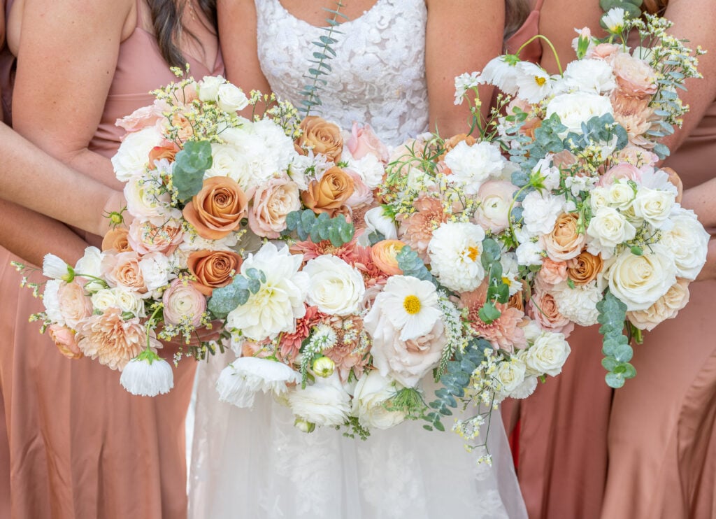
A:
[[[383,377],[376,370],[363,375],[353,393],[352,414],[358,417],[360,425],[368,429],[390,429],[405,420],[405,414],[388,411],[385,402],[397,394],[402,386]]]

